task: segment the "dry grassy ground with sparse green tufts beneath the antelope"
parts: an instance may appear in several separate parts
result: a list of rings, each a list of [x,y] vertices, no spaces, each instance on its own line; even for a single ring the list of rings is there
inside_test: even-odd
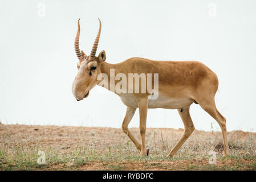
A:
[[[131,132],[140,139],[139,129]],[[0,125],[2,170],[256,170],[256,133],[228,133],[230,156],[222,157],[220,132],[194,131],[173,158],[166,158],[183,129],[147,129],[149,156],[140,157],[121,129]],[[38,164],[38,151],[46,164]],[[217,164],[209,164],[209,152]]]

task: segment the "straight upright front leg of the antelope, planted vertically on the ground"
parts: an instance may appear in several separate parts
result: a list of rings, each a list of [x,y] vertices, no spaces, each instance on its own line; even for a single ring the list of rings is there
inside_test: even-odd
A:
[[[141,135],[141,152],[140,156],[147,155],[145,134],[146,134],[146,122],[148,113],[148,98],[141,98],[138,100],[139,113],[140,113],[140,135]]]

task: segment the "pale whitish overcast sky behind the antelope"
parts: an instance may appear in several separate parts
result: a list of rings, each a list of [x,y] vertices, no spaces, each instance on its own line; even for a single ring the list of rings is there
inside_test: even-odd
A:
[[[0,121],[4,124],[120,128],[126,106],[96,86],[77,102],[74,39],[90,53],[99,22],[98,54],[108,63],[131,57],[197,60],[218,76],[217,108],[227,130],[256,131],[255,1],[0,1]],[[220,130],[199,105],[197,130]],[[184,128],[176,110],[149,109],[147,127]],[[139,126],[136,111],[129,127]]]

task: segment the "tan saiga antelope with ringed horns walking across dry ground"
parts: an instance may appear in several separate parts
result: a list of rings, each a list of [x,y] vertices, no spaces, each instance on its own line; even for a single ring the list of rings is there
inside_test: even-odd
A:
[[[153,61],[140,57],[133,57],[118,64],[109,64],[105,62],[105,51],[101,51],[98,56],[95,56],[101,32],[100,19],[99,31],[91,54],[87,56],[79,49],[79,20],[78,32],[75,38],[75,52],[79,59],[77,65],[79,71],[72,85],[72,93],[76,100],[80,101],[88,97],[90,90],[101,82],[101,80],[97,80],[97,75],[105,73],[109,78],[110,69],[115,69],[115,73],[124,73],[126,76],[128,76],[128,73],[152,73],[152,75],[153,73],[159,73],[159,97],[156,100],[149,101],[148,98],[152,93],[148,92],[116,93],[114,91],[127,106],[122,129],[140,151],[140,156],[148,155],[149,152],[145,147],[148,108],[178,110],[185,129],[180,140],[168,154],[168,156],[173,156],[194,131],[194,125],[189,114],[189,107],[193,103],[199,104],[202,109],[216,119],[222,131],[224,155],[228,155],[226,119],[215,105],[214,96],[218,89],[218,78],[213,71],[198,61]],[[137,107],[139,107],[140,114],[141,144],[128,130],[128,124]]]

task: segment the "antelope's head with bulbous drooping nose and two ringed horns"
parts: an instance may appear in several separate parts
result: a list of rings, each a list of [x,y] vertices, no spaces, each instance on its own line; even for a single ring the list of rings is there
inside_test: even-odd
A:
[[[80,20],[80,19],[79,19]],[[80,24],[78,20],[78,32],[75,38],[75,52],[78,56],[78,74],[72,85],[72,93],[74,94],[77,101],[83,100],[83,98],[88,97],[89,92],[94,86],[99,82],[97,80],[97,75],[101,73],[100,67],[101,63],[105,61],[106,55],[105,51],[101,51],[98,56],[95,56],[97,51],[97,45],[99,44],[101,22],[99,31],[97,32],[96,39],[94,41],[94,46],[92,46],[91,54],[86,55],[83,51],[79,49],[79,36],[80,36]]]

